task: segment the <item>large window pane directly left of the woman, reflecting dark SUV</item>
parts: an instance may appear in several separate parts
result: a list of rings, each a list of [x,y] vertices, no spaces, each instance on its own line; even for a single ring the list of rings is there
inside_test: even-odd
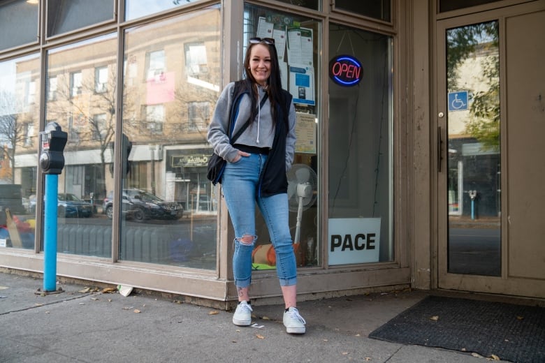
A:
[[[119,258],[216,268],[206,140],[221,85],[220,8],[126,30]]]

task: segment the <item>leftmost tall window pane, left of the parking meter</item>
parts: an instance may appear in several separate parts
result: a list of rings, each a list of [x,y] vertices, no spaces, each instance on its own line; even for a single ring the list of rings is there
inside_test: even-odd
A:
[[[34,249],[40,57],[0,62],[0,249]]]

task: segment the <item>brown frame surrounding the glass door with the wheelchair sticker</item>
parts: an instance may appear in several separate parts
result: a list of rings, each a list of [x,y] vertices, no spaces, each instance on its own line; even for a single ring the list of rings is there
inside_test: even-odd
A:
[[[543,283],[538,280],[520,279],[509,276],[507,264],[509,261],[508,255],[508,228],[507,213],[509,206],[507,205],[507,192],[502,193],[502,216],[501,216],[501,276],[478,276],[469,274],[451,274],[447,272],[447,235],[448,235],[448,205],[447,205],[447,156],[448,156],[448,135],[446,135],[446,29],[455,27],[463,27],[470,24],[488,22],[497,20],[499,23],[499,47],[500,47],[500,152],[501,152],[501,184],[502,190],[508,191],[507,188],[507,119],[505,108],[507,105],[505,91],[506,84],[506,44],[505,31],[506,19],[515,15],[523,15],[542,11],[545,8],[545,1],[533,1],[521,3],[520,5],[507,6],[495,10],[483,11],[481,13],[473,13],[469,15],[460,15],[456,17],[445,17],[442,20],[435,21],[435,47],[433,47],[433,57],[435,58],[434,73],[435,82],[432,87],[435,88],[432,103],[432,123],[433,129],[437,130],[432,140],[436,142],[437,153],[433,155],[435,163],[435,209],[436,219],[436,243],[432,246],[435,248],[435,285],[440,289],[449,290],[464,290],[472,292],[486,292],[502,295],[518,295],[528,297],[542,297]],[[457,12],[459,13],[459,12]],[[444,114],[444,117],[439,117],[439,114]],[[541,291],[541,292],[540,292]]]

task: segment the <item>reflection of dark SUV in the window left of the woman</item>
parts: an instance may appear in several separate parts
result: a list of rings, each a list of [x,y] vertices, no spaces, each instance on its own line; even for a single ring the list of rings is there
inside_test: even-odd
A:
[[[108,218],[112,218],[113,193],[104,199],[103,210]],[[184,214],[184,207],[177,202],[166,202],[152,193],[141,189],[128,188],[122,192],[122,213],[135,221],[146,219],[178,219]]]

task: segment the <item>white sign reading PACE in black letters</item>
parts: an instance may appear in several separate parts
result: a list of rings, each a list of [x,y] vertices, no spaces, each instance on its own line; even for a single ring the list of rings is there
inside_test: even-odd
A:
[[[381,218],[331,218],[329,265],[379,262]]]

